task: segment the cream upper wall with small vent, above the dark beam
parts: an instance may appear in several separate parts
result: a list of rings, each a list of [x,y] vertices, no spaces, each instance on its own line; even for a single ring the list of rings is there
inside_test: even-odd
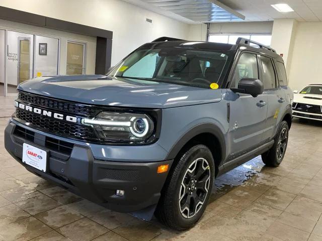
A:
[[[112,65],[146,42],[163,36],[187,39],[189,34],[188,24],[120,0],[2,0],[0,5],[113,31]]]

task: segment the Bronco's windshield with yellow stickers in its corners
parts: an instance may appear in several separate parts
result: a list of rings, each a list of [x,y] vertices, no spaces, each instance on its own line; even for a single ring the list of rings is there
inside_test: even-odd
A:
[[[178,47],[138,49],[109,76],[210,88],[225,75],[227,52]]]

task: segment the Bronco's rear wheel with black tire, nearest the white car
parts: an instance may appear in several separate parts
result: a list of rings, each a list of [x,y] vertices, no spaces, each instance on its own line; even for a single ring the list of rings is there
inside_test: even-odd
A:
[[[262,154],[262,160],[266,166],[278,167],[283,161],[287,148],[288,131],[288,124],[286,121],[283,121],[274,138],[273,147]],[[284,134],[286,134],[286,136],[284,136]]]

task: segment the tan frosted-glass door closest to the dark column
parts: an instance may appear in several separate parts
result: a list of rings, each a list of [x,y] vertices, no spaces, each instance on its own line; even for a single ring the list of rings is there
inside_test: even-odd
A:
[[[82,43],[67,42],[66,74],[85,74],[85,47]]]

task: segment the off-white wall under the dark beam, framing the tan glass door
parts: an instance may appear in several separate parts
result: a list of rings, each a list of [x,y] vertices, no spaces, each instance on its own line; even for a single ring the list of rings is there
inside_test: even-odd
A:
[[[1,3],[0,3],[1,4]],[[47,36],[58,38],[60,40],[60,58],[59,58],[59,74],[66,74],[66,56],[67,56],[67,41],[74,41],[80,43],[86,43],[87,55],[86,55],[86,73],[95,73],[95,58],[96,58],[96,38],[66,33],[62,31],[46,29],[26,24],[20,24],[15,22],[10,22],[6,20],[0,20],[0,29],[7,29],[16,32],[36,34],[40,36]],[[8,79],[9,76],[7,76]],[[8,79],[9,80],[9,79]],[[10,83],[8,81],[8,83]]]

